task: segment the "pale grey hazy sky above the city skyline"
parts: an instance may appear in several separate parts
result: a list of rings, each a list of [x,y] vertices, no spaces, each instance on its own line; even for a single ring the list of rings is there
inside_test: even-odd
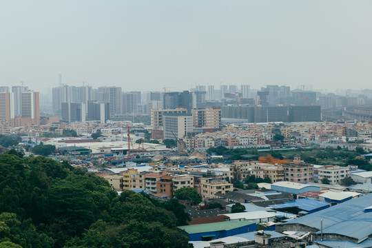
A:
[[[372,1],[0,0],[0,85],[372,88]]]

